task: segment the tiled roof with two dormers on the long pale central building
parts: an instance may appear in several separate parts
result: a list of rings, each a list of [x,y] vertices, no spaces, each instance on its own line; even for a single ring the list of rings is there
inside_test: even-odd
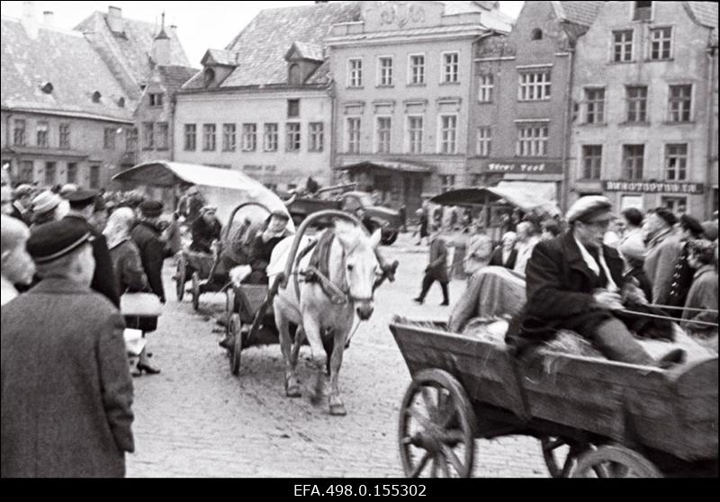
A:
[[[293,42],[321,45],[331,25],[359,20],[359,2],[261,11],[226,48],[238,54],[239,64],[221,86],[283,84],[287,81],[284,56]]]

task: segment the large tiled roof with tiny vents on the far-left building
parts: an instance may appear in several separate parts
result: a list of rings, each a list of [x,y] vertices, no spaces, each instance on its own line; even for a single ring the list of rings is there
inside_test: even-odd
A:
[[[40,27],[33,40],[19,20],[3,18],[2,39],[4,107],[130,119],[134,102],[81,34]],[[40,90],[45,82],[52,85],[49,94]],[[93,102],[95,91],[99,103]]]

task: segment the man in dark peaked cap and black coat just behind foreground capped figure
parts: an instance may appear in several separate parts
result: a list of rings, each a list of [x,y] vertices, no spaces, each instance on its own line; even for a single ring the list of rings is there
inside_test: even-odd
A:
[[[112,270],[112,259],[107,248],[107,240],[103,234],[90,223],[95,211],[95,199],[99,193],[94,190],[76,190],[67,194],[70,210],[63,218],[75,223],[79,228],[85,229],[93,236],[93,256],[95,272],[90,287],[112,301],[115,307],[120,307],[120,293],[117,279]]]

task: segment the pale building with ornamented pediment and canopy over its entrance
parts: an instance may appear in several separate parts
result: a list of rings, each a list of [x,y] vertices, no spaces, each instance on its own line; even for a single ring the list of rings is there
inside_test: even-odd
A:
[[[332,27],[336,178],[414,211],[472,183],[466,171],[473,42],[509,31],[495,2],[363,2]]]

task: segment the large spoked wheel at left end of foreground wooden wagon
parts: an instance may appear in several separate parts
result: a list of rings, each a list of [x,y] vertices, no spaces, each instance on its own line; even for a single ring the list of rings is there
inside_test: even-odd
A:
[[[469,478],[475,415],[463,386],[443,370],[424,370],[402,399],[400,456],[408,478]]]

